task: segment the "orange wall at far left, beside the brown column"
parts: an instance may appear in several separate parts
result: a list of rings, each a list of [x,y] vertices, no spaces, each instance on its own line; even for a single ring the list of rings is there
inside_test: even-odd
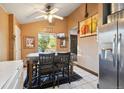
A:
[[[7,13],[1,6],[0,6],[0,61],[10,60],[10,24],[11,26],[17,25],[19,28],[21,25],[14,17],[12,22],[9,22],[9,13]],[[14,29],[13,29],[14,30]],[[14,31],[13,31],[14,32]],[[11,34],[12,35],[12,34]],[[14,42],[14,41],[12,41]],[[14,52],[14,51],[13,51]],[[12,53],[13,54],[13,53]]]

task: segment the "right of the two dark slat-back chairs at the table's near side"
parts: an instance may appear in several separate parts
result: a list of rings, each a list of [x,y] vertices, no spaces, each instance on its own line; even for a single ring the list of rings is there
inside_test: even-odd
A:
[[[56,58],[56,66],[57,66],[59,75],[62,74],[63,77],[65,77],[66,75],[68,78],[68,82],[70,83],[70,52],[58,53],[58,56]],[[59,77],[57,80],[59,81]]]

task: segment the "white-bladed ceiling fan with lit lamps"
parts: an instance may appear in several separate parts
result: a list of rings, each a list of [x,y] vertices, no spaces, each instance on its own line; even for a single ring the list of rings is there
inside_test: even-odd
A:
[[[63,17],[55,15],[55,13],[58,12],[58,11],[59,11],[58,8],[53,8],[52,9],[52,5],[48,4],[48,5],[46,5],[46,10],[45,11],[43,11],[41,9],[39,10],[41,15],[36,16],[35,19],[44,18],[45,20],[48,20],[49,23],[52,23],[53,18],[63,20]]]

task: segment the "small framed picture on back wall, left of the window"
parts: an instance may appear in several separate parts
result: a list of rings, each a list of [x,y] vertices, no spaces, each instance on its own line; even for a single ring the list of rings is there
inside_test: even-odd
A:
[[[33,37],[33,36],[24,37],[24,47],[25,48],[34,48],[35,47],[35,37]]]

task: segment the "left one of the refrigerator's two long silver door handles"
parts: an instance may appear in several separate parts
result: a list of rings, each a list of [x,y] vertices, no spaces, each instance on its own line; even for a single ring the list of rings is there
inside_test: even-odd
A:
[[[115,67],[117,65],[116,63],[116,39],[117,39],[117,36],[116,34],[114,35],[114,38],[113,38],[113,49],[112,49],[112,55],[113,55],[113,66]]]

